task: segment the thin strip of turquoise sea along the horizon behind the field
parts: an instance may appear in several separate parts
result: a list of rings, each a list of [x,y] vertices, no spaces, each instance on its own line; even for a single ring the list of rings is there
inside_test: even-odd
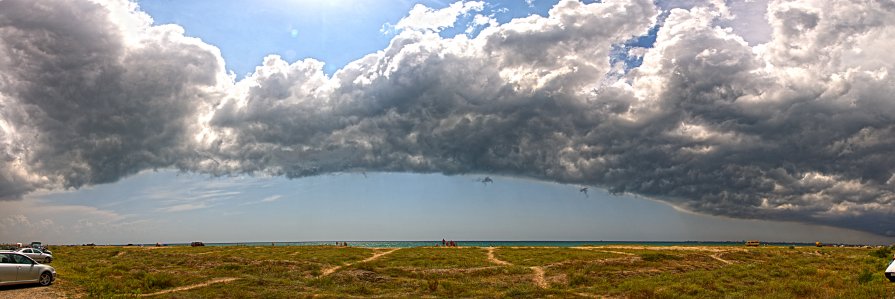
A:
[[[320,246],[336,245],[341,241],[311,242],[244,242],[244,243],[205,243],[206,246]],[[441,245],[441,241],[346,241],[352,247],[376,248],[409,248]],[[506,246],[538,246],[538,247],[575,247],[599,245],[647,245],[647,246],[743,246],[745,241],[730,242],[643,242],[643,241],[456,241],[459,246],[472,247],[506,247]],[[189,246],[189,243],[166,244],[168,246]],[[778,246],[814,246],[808,243],[762,243],[762,245]]]

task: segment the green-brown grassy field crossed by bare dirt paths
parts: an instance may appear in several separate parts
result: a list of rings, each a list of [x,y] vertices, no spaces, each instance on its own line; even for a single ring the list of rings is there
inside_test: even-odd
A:
[[[71,297],[884,298],[888,249],[54,247]],[[0,291],[2,295],[2,291]]]

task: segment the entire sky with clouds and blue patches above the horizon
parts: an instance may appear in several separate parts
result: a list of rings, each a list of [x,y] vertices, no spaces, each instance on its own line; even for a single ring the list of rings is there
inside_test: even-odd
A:
[[[0,0],[0,242],[891,243],[893,15]]]

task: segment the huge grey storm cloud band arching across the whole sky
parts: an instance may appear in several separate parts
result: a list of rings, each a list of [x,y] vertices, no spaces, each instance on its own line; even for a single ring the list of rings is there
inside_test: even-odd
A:
[[[418,6],[332,76],[269,56],[236,81],[129,2],[0,1],[0,196],[153,168],[487,173],[895,235],[895,5],[769,1],[750,45],[706,2],[503,24],[481,2]],[[442,34],[460,15],[484,29]]]

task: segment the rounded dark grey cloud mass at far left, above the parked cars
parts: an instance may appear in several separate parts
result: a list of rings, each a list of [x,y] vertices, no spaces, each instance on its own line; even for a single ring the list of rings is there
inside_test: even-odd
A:
[[[189,153],[220,55],[177,27],[117,24],[112,13],[143,20],[116,4],[127,7],[0,1],[0,196],[113,182]]]

